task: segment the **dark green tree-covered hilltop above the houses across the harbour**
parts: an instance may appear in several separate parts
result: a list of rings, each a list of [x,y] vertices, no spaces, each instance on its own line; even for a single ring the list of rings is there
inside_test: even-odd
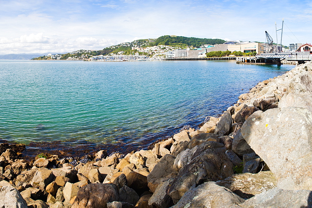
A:
[[[201,45],[209,44],[209,45],[215,45],[215,44],[222,44],[225,40],[222,39],[208,39],[208,38],[188,38],[183,36],[175,36],[175,35],[163,35],[155,40],[154,43],[151,43],[151,46],[154,45],[172,45],[177,43],[182,43],[186,45],[192,45],[193,47],[198,48]]]

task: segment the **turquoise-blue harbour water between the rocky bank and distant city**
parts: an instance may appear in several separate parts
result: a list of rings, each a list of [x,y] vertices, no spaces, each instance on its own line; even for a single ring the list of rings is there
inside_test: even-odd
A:
[[[293,67],[235,61],[0,61],[0,138],[146,147],[183,125],[197,126],[220,114],[259,81]]]

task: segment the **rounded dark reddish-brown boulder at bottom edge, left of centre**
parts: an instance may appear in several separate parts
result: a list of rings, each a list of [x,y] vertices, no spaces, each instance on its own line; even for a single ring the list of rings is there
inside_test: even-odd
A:
[[[79,189],[72,208],[106,207],[113,201],[119,201],[119,190],[115,184],[90,183]]]

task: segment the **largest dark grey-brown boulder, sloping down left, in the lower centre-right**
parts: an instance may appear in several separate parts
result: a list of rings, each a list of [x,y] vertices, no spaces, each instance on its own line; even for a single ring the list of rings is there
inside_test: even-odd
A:
[[[225,154],[223,144],[208,141],[202,143],[193,154],[193,159],[184,166],[172,182],[168,193],[177,202],[192,186],[207,181],[218,181],[233,174],[233,164]]]

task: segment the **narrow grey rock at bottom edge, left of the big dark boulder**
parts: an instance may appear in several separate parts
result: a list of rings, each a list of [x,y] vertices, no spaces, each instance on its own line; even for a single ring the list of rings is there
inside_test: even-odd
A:
[[[159,186],[154,191],[154,194],[149,199],[149,206],[151,207],[170,207],[173,206],[173,201],[168,195],[167,190],[173,182],[173,178],[170,178]]]

